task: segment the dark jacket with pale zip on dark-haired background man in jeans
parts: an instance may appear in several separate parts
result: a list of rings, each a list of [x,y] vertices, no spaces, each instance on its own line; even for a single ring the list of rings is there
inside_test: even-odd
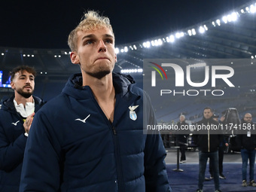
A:
[[[197,122],[197,126],[199,125],[216,125],[218,126],[218,122],[213,120],[212,117],[206,119],[203,117],[203,120]],[[216,134],[216,132],[212,129],[209,130],[200,130],[197,134],[193,135],[194,143],[197,145],[198,150],[202,152],[215,152],[218,151],[218,146],[223,140],[223,136],[221,134]]]

